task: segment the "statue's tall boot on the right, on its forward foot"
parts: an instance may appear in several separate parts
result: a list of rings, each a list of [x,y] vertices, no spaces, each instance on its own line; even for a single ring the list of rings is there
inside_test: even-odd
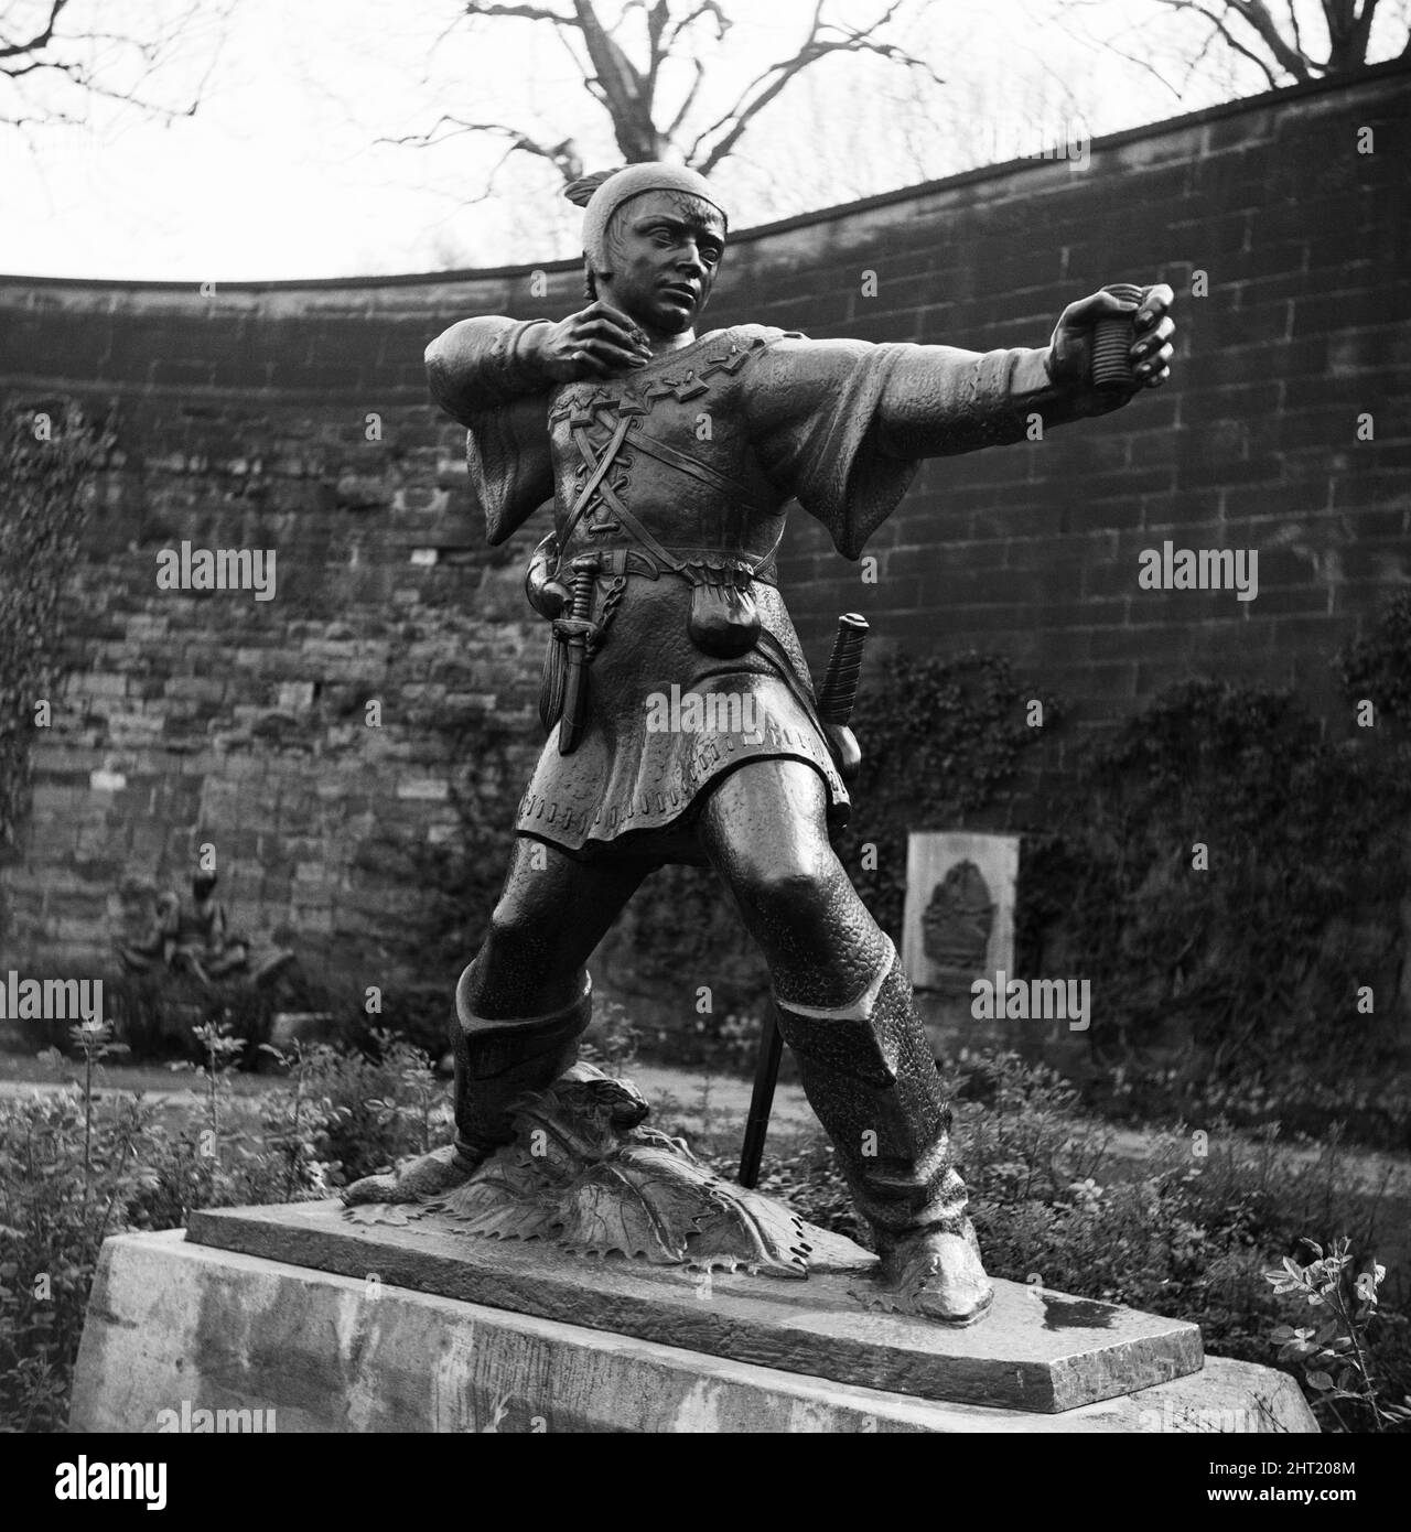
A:
[[[896,950],[889,942],[876,977],[852,1005],[820,1010],[778,996],[774,1003],[809,1106],[872,1226],[882,1304],[973,1324],[994,1288],[965,1216],[950,1108]]]

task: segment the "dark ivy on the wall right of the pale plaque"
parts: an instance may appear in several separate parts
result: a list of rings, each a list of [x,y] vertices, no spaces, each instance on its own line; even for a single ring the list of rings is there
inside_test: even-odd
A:
[[[1394,997],[1405,768],[1325,741],[1287,692],[1169,688],[1026,847],[1026,970],[1092,980],[1100,1056],[1189,1043],[1219,1071],[1360,1045],[1360,985]]]

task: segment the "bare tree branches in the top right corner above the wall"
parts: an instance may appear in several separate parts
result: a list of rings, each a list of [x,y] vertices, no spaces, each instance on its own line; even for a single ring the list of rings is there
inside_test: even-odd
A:
[[[1083,8],[1085,0],[1060,0],[1059,5],[1059,11],[1069,15]],[[1206,66],[1216,49],[1247,60],[1270,89],[1365,69],[1374,61],[1373,23],[1379,9],[1386,32],[1394,31],[1396,35],[1390,49],[1377,52],[1382,58],[1411,58],[1411,21],[1405,0],[1282,0],[1281,5],[1265,0],[1146,0],[1147,17],[1152,8],[1178,12],[1190,28],[1184,51],[1187,80]],[[1131,29],[1140,31],[1141,23]],[[1132,58],[1115,38],[1108,38],[1108,46]],[[1132,61],[1147,63],[1146,58]]]

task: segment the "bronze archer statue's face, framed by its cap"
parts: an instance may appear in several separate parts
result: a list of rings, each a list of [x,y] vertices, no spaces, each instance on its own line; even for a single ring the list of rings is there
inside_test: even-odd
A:
[[[597,293],[648,334],[679,336],[696,325],[725,253],[725,222],[700,198],[643,192],[624,202],[607,236],[610,273]]]

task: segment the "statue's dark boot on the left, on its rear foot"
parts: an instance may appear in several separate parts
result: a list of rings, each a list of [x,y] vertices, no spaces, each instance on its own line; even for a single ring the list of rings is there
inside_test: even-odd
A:
[[[343,1192],[362,1203],[424,1203],[464,1186],[481,1161],[515,1137],[519,1097],[547,1091],[578,1059],[578,1039],[593,1016],[593,980],[584,974],[579,997],[548,1016],[490,1022],[469,1005],[466,968],[455,990],[455,1143],[434,1149],[397,1175],[368,1175]]]

